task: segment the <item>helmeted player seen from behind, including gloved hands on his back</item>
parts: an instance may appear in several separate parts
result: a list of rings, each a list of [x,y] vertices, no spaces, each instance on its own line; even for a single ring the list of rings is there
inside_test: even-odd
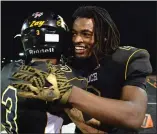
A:
[[[7,133],[61,132],[65,106],[47,101],[60,98],[64,104],[72,85],[83,89],[87,85],[61,60],[69,48],[68,31],[55,13],[36,12],[24,21],[21,41],[27,59],[32,60],[7,64],[1,73],[2,125]]]

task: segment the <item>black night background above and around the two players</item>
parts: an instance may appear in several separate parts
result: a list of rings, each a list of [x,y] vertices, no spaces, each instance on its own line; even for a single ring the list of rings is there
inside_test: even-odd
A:
[[[147,49],[153,74],[156,69],[156,2],[155,1],[2,1],[1,54],[16,59],[22,45],[14,39],[27,16],[36,11],[54,11],[70,25],[71,15],[81,5],[104,7],[115,21],[121,44]]]

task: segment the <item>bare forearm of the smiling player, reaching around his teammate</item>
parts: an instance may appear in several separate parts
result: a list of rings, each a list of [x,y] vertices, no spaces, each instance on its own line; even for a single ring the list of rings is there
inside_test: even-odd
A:
[[[69,103],[97,120],[116,126],[138,128],[136,105],[128,101],[102,98],[74,88]]]

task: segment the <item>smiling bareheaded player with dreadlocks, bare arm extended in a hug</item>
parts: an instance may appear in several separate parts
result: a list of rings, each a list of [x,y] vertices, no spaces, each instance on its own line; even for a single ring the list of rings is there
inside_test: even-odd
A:
[[[88,119],[98,120],[100,130],[137,130],[147,108],[146,77],[152,72],[149,53],[119,46],[118,29],[101,7],[79,7],[72,17],[71,65],[88,78],[88,91],[95,95],[74,89],[69,103],[88,115]]]

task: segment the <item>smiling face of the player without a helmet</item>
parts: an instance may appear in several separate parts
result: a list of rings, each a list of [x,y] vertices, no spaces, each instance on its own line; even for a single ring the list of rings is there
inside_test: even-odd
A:
[[[87,58],[91,56],[94,46],[94,23],[92,19],[77,18],[73,23],[72,41],[75,46],[75,56]]]

